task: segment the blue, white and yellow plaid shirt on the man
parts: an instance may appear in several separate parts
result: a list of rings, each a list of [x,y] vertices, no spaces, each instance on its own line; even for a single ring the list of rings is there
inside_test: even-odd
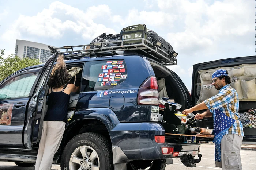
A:
[[[225,85],[216,96],[208,98],[204,101],[211,113],[215,113],[215,109],[219,109],[226,116],[236,120],[229,128],[226,134],[237,134],[244,136],[243,126],[239,120],[240,115],[238,94],[229,84]]]

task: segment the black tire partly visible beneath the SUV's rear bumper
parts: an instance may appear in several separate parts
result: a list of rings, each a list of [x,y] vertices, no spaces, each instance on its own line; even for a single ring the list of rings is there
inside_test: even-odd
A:
[[[145,166],[145,162],[144,161],[147,161],[147,160],[136,161],[136,162],[133,162],[133,161],[129,162],[127,164],[127,166],[126,166],[126,170],[145,170],[149,166],[148,167],[141,167],[141,166]],[[165,170],[165,167],[166,167],[165,159],[163,159],[163,160],[152,160],[150,168],[147,169],[147,170]]]

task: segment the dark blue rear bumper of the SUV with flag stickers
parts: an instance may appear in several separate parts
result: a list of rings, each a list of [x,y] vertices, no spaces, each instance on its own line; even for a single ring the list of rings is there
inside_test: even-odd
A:
[[[120,123],[112,132],[120,133],[120,137],[112,138],[112,146],[120,147],[128,160],[168,159],[182,155],[195,156],[200,152],[200,143],[156,143],[155,135],[165,135],[165,129],[159,123]],[[162,147],[173,147],[174,154],[162,154]]]

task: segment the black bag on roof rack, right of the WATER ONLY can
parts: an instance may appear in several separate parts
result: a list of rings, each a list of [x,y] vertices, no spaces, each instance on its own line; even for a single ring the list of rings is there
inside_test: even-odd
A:
[[[163,39],[161,36],[158,36],[157,33],[155,33],[152,30],[147,30],[148,32],[148,40],[150,42],[155,42],[155,40],[158,40],[162,43],[161,49],[165,51],[167,54],[170,54],[173,51],[173,47],[168,43],[165,39]]]

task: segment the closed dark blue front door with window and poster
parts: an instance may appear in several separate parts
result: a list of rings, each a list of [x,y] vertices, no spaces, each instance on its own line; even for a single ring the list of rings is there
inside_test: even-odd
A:
[[[23,146],[27,104],[39,77],[39,69],[16,72],[0,84],[0,146]]]

